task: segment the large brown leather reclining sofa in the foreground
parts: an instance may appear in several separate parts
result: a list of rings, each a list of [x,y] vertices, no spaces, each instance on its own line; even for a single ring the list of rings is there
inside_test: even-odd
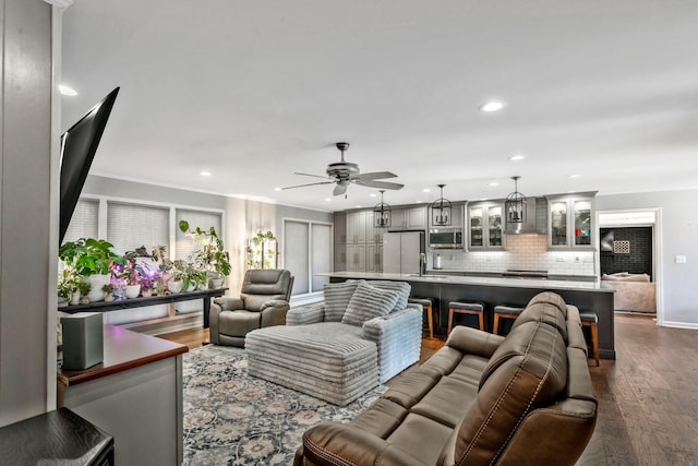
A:
[[[574,465],[595,419],[579,311],[543,292],[506,337],[458,326],[351,422],[308,430],[294,465]]]

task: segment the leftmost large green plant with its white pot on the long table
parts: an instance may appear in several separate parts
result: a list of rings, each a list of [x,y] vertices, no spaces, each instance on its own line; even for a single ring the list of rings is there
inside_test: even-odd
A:
[[[63,243],[58,250],[60,260],[89,283],[87,297],[92,302],[105,299],[101,288],[109,283],[110,266],[117,258],[111,248],[113,244],[101,239],[80,238]]]

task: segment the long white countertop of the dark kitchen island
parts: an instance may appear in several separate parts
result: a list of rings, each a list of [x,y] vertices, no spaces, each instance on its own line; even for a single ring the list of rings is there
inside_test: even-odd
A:
[[[404,282],[426,282],[445,285],[485,285],[503,286],[508,288],[543,288],[543,289],[566,289],[575,291],[600,291],[614,292],[611,285],[601,280],[575,282],[554,280],[540,278],[501,278],[501,277],[472,277],[472,276],[450,276],[429,274],[418,276],[417,274],[385,274],[375,272],[329,272],[317,274],[318,276],[335,278],[363,278],[363,279],[387,279]]]

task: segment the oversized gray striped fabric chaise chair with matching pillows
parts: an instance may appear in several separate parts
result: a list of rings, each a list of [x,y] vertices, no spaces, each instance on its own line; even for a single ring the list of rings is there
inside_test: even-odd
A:
[[[409,294],[402,282],[327,284],[324,302],[248,334],[248,373],[346,405],[419,361],[422,309]]]

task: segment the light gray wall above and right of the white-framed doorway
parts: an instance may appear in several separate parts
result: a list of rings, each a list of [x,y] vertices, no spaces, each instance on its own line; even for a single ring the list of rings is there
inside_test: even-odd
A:
[[[698,328],[698,190],[599,195],[597,211],[661,208],[662,320],[670,325]],[[685,255],[686,263],[674,262]]]

